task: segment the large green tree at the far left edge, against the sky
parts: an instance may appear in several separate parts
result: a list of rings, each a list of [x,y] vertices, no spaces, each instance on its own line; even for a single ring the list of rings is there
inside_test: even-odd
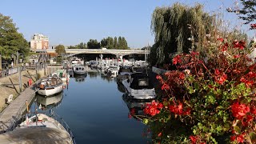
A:
[[[17,52],[26,57],[29,51],[29,43],[26,42],[22,34],[18,33],[18,28],[13,20],[0,14],[0,54],[2,57],[10,59],[11,54]]]

